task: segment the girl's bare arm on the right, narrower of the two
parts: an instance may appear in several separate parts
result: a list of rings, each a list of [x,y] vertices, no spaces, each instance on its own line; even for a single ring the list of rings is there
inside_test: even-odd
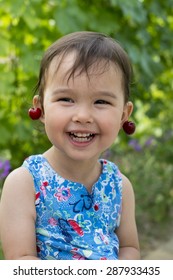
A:
[[[120,227],[116,232],[120,241],[119,259],[138,260],[140,249],[135,221],[135,198],[130,181],[123,176],[123,201]]]

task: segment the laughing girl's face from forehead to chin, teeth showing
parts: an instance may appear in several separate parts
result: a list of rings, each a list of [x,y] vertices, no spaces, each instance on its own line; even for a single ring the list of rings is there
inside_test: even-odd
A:
[[[54,58],[47,73],[42,122],[57,153],[66,159],[97,159],[112,145],[132,104],[124,104],[122,74],[110,63],[99,73],[92,67],[67,81],[75,54],[67,55],[58,71]],[[100,64],[102,66],[102,64]]]

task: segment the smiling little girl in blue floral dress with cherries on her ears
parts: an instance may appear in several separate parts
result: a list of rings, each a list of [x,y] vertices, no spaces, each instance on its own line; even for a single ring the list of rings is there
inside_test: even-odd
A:
[[[51,148],[7,177],[1,200],[6,259],[139,259],[130,181],[100,154],[120,129],[130,133],[131,66],[108,36],[75,32],[42,62],[32,119]]]

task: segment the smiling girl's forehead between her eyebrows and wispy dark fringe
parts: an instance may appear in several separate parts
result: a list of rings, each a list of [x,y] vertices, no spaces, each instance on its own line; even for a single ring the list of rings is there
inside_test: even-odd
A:
[[[81,97],[104,93],[124,100],[124,88],[122,82],[122,72],[113,63],[99,61],[93,64],[87,71],[81,72],[76,69],[73,76],[69,78],[73,69],[76,54],[72,53],[63,57],[55,57],[49,67],[46,81],[45,93],[57,92],[80,94]],[[70,90],[70,91],[69,91]],[[46,94],[47,95],[47,94]],[[48,94],[49,95],[49,94]]]

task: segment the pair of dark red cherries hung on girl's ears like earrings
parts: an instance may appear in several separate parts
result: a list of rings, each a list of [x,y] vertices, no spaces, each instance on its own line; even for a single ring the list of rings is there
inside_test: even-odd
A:
[[[30,108],[28,114],[32,120],[38,120],[41,117],[40,108]],[[126,134],[131,135],[135,132],[136,126],[132,121],[126,121],[123,124],[123,130]]]

